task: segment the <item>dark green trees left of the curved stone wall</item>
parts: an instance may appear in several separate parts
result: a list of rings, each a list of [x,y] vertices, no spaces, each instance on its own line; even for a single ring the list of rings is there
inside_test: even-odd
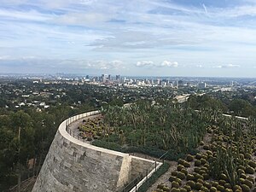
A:
[[[22,181],[38,175],[58,125],[79,111],[59,105],[43,112],[32,109],[1,112],[0,191],[17,184],[19,177]]]

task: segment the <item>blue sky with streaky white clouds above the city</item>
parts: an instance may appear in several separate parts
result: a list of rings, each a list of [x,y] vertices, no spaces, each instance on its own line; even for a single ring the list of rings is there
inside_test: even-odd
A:
[[[256,1],[0,0],[0,73],[256,78]]]

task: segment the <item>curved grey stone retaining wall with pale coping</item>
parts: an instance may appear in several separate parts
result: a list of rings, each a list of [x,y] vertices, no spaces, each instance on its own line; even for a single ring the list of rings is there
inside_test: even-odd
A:
[[[77,118],[95,113],[99,112],[79,114]],[[66,126],[73,119],[67,119],[59,126],[32,192],[113,192],[129,183],[134,174],[132,166],[143,165],[142,169],[145,170],[154,163],[152,160],[138,160],[129,154],[98,148],[71,137]]]

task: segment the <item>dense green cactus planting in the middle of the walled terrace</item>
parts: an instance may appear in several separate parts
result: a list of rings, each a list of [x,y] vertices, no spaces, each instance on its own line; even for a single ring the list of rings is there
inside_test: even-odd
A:
[[[168,101],[141,101],[127,108],[109,107],[103,115],[113,131],[94,144],[156,157],[167,151],[166,159],[177,160],[195,152],[207,131],[207,114]]]

